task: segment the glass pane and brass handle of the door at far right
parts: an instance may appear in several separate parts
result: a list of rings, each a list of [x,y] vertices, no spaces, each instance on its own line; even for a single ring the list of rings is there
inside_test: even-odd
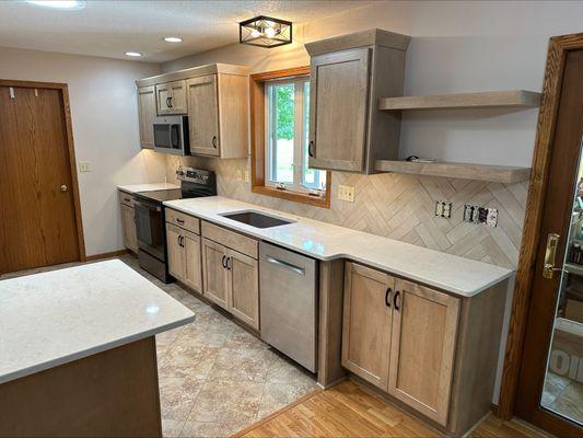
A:
[[[582,142],[583,145],[583,142]],[[581,152],[569,228],[563,231],[563,261],[552,263],[547,244],[548,275],[560,275],[552,339],[540,406],[583,425],[583,165]],[[547,262],[549,262],[547,264]],[[547,277],[548,278],[548,277]]]

